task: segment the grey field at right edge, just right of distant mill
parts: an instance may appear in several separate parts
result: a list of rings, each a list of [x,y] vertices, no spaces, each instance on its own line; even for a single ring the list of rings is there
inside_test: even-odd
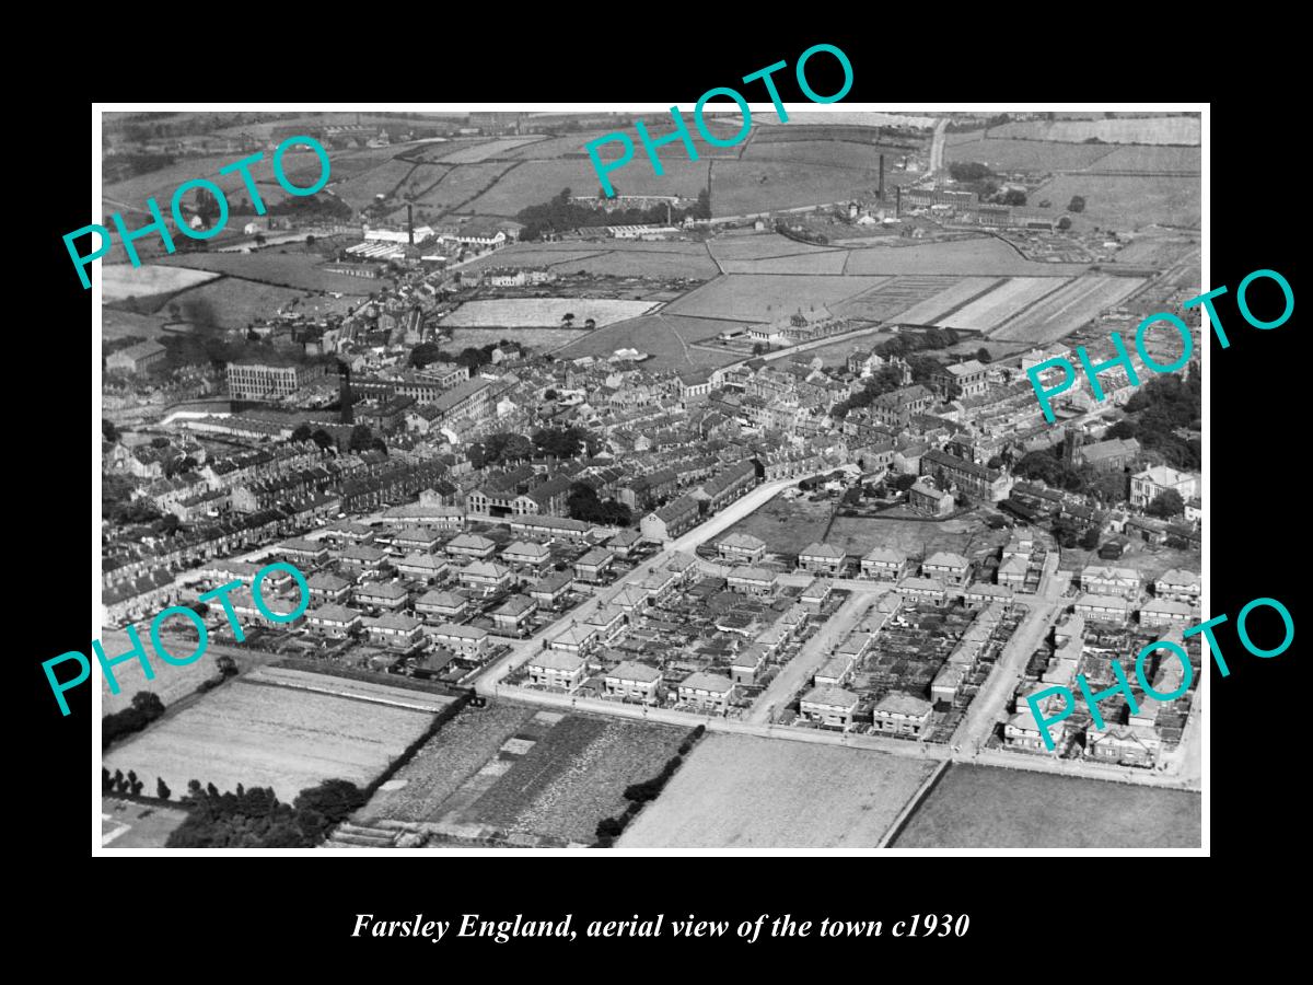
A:
[[[1032,196],[1065,209],[1071,196],[1085,196],[1085,223],[1119,232],[1145,226],[1199,229],[1197,177],[1115,177],[1112,175],[1060,175]],[[1073,217],[1075,221],[1077,217]]]

